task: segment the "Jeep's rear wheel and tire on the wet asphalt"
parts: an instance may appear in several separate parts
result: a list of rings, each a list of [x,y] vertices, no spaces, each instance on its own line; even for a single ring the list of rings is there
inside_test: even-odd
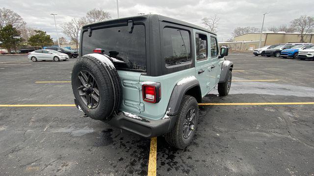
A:
[[[167,134],[167,143],[175,148],[184,149],[192,141],[198,122],[198,105],[194,97],[185,95],[180,104],[174,128]]]

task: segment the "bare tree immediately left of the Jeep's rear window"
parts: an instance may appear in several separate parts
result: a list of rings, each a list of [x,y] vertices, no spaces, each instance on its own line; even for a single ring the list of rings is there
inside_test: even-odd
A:
[[[63,33],[68,36],[71,41],[73,41],[77,48],[79,44],[79,33],[80,29],[83,25],[86,24],[85,18],[79,18],[79,19],[72,19],[71,22],[65,22],[61,27],[63,29]]]

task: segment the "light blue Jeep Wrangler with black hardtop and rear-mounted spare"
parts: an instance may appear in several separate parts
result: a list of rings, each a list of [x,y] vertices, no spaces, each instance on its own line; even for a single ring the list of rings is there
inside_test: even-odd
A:
[[[75,104],[87,116],[183,149],[198,103],[218,85],[227,95],[233,63],[215,33],[160,15],[83,26],[72,71]]]

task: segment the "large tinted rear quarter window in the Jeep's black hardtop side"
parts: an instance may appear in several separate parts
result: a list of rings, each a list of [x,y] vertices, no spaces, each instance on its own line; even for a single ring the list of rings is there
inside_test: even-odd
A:
[[[191,62],[190,34],[188,31],[165,27],[162,52],[166,66]]]

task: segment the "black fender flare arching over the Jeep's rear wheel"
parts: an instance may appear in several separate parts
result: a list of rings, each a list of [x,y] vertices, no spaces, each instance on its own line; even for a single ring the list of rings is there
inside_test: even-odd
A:
[[[188,90],[193,89],[193,94],[196,100],[200,103],[202,101],[202,94],[200,83],[197,79],[186,82],[182,85],[176,85],[171,93],[170,100],[167,107],[167,115],[176,115],[179,111],[179,107],[183,96],[186,94]],[[195,89],[195,90],[194,90]],[[193,96],[193,95],[192,95]]]

